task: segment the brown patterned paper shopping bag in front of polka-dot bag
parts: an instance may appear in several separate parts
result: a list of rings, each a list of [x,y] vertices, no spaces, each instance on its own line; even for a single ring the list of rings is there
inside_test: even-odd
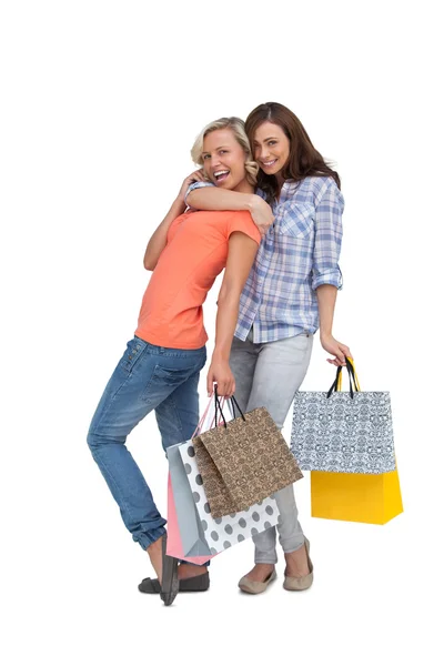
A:
[[[211,515],[219,518],[246,511],[303,475],[265,407],[243,414],[233,396],[234,418],[226,421],[216,392],[214,401],[223,423],[193,445]]]

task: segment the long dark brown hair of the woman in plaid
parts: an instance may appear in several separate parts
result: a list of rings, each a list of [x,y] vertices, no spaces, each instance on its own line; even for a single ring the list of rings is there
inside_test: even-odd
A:
[[[251,145],[253,145],[258,128],[266,121],[282,128],[290,141],[289,160],[282,169],[284,180],[294,180],[297,182],[307,175],[330,175],[341,189],[339,174],[329,167],[321,153],[314,148],[299,118],[283,104],[266,102],[265,104],[260,104],[249,113],[245,120],[245,131]],[[258,174],[258,188],[261,188],[265,192],[269,202],[278,199],[279,185],[276,176],[265,174],[262,169],[260,169]]]

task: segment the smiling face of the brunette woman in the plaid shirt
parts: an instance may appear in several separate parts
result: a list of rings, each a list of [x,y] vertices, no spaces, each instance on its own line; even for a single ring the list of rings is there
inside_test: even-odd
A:
[[[283,129],[269,121],[259,125],[254,133],[253,154],[268,175],[282,171],[290,155],[290,141]]]

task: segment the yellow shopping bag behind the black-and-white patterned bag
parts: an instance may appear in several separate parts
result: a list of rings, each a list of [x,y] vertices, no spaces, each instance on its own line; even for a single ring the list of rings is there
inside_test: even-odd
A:
[[[357,391],[361,391],[354,370]],[[342,389],[339,373],[336,389]],[[384,525],[403,512],[397,468],[382,474],[311,472],[312,516]]]

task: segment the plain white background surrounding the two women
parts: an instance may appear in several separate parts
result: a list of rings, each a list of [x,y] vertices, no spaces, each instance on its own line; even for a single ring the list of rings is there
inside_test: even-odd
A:
[[[1,2],[3,664],[438,663],[437,7]],[[214,561],[209,593],[167,608],[137,589],[148,557],[85,434],[135,329],[144,248],[193,170],[195,134],[264,101],[289,105],[342,176],[334,333],[362,387],[391,391],[405,513],[385,526],[311,518],[306,474],[295,487],[310,592],[282,589],[281,557],[266,594],[241,595],[245,543]],[[212,291],[210,337],[215,300]],[[325,357],[316,336],[303,389],[331,384]],[[130,447],[164,511],[153,415]]]

